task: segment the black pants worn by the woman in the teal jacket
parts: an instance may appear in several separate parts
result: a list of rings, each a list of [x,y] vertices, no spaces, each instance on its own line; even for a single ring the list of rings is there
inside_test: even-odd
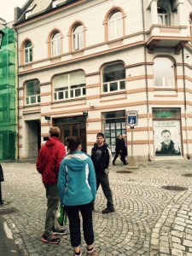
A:
[[[83,218],[84,240],[87,245],[94,242],[93,219],[92,219],[92,202],[81,206],[65,206],[69,220],[70,239],[72,247],[79,247],[81,244],[80,217],[79,211]]]

